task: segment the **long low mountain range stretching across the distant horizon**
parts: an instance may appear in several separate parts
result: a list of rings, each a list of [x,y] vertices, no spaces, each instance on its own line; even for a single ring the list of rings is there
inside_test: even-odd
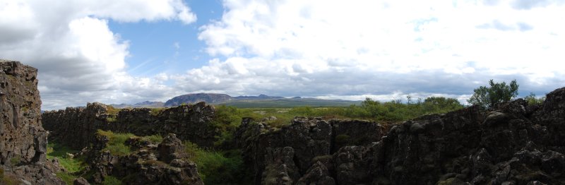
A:
[[[112,105],[116,108],[126,108],[126,107],[175,107],[183,104],[195,104],[197,102],[206,102],[212,105],[229,105],[241,108],[253,108],[253,107],[300,107],[300,106],[311,106],[311,107],[330,107],[330,106],[349,106],[349,105],[359,105],[361,101],[349,101],[349,100],[323,100],[316,98],[302,98],[302,97],[278,97],[278,96],[268,96],[268,95],[258,95],[258,96],[237,96],[232,97],[226,94],[218,93],[191,93],[186,95],[179,95],[173,97],[167,102],[140,102],[135,105]]]

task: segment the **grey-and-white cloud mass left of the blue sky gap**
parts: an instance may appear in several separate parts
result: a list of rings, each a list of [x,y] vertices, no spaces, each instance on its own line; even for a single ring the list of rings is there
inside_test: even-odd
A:
[[[108,20],[196,21],[181,0],[0,4],[0,56],[39,69],[42,109],[92,101],[150,100],[174,93],[160,83],[162,76],[139,78],[124,71],[129,42],[109,30]]]

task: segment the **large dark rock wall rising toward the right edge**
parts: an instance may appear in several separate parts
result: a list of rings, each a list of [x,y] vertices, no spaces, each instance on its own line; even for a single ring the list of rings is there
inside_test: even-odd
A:
[[[565,88],[543,105],[468,107],[395,124],[244,119],[234,134],[256,184],[565,184]],[[292,160],[291,160],[292,159]]]

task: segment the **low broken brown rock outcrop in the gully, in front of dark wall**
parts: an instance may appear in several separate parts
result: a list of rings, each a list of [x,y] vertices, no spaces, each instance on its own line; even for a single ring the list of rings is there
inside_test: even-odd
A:
[[[118,177],[125,184],[203,184],[196,164],[186,160],[184,145],[174,134],[158,145],[130,138],[125,144],[136,150],[125,156],[102,150],[109,141],[106,136],[97,134],[95,138],[95,147],[87,161],[97,184],[109,176]]]

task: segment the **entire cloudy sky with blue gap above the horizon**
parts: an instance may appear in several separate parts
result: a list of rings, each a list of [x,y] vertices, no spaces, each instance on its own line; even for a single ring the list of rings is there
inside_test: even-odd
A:
[[[565,1],[0,0],[0,58],[42,109],[186,93],[465,102],[565,86]]]

